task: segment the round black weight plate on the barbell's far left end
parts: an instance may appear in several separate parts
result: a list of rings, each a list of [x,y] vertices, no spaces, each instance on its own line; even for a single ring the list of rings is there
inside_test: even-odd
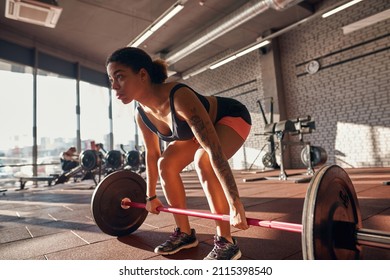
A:
[[[120,170],[106,176],[96,187],[91,201],[95,223],[106,234],[128,235],[145,221],[148,212],[143,208],[123,209],[121,201],[145,203],[146,183],[141,176],[129,170]]]

